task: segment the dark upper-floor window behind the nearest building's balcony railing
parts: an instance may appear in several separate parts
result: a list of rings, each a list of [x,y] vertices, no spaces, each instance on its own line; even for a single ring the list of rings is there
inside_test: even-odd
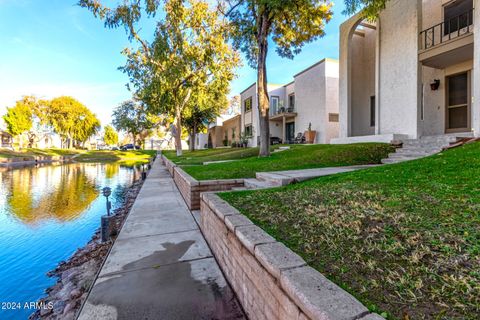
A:
[[[444,35],[458,32],[473,23],[473,0],[457,0],[443,8]]]

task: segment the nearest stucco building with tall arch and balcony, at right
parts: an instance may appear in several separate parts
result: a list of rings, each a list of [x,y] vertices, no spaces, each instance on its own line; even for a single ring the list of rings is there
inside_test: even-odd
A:
[[[340,27],[340,138],[480,134],[480,0],[390,0]],[[474,97],[477,97],[475,99]]]

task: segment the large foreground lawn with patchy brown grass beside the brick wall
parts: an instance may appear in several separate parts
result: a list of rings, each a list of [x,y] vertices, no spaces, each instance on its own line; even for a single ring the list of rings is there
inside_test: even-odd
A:
[[[371,310],[479,319],[480,143],[221,197]]]

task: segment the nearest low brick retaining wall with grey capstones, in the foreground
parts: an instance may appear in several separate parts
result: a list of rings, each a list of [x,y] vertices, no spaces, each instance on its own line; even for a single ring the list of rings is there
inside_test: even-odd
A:
[[[250,319],[383,319],[212,193],[200,228]]]

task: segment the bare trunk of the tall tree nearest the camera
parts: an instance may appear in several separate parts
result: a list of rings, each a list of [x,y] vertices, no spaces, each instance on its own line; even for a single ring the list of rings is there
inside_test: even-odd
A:
[[[257,35],[258,44],[258,60],[257,60],[257,92],[258,92],[258,114],[260,123],[260,157],[268,157],[270,155],[270,119],[269,109],[270,103],[267,89],[267,51],[268,51],[268,18],[263,13],[260,17],[259,31]],[[255,133],[254,133],[255,134]]]

